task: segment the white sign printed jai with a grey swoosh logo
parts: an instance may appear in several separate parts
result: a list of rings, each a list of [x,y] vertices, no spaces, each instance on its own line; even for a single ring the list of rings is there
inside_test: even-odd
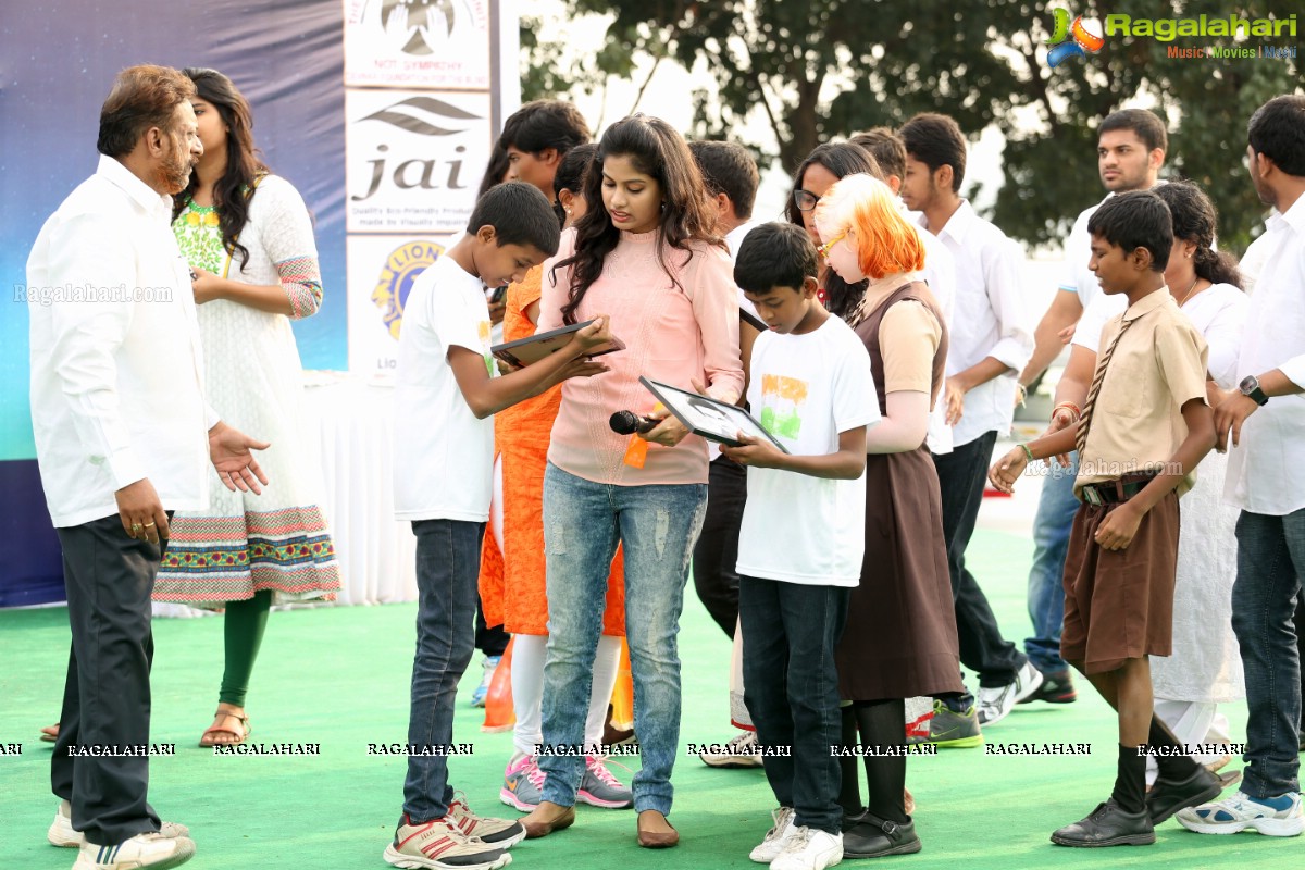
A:
[[[346,231],[465,230],[491,141],[487,93],[346,91]]]

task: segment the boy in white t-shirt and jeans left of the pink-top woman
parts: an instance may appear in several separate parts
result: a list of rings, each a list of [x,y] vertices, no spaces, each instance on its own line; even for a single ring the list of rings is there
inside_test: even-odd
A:
[[[453,702],[471,660],[480,541],[489,517],[493,413],[570,377],[606,372],[586,352],[611,339],[607,318],[561,351],[493,377],[484,288],[519,282],[557,253],[557,215],[538,189],[509,181],[476,202],[467,232],[412,282],[403,305],[394,390],[394,514],[416,535],[403,815],[385,860],[398,867],[510,862],[519,822],[480,818],[449,785]]]

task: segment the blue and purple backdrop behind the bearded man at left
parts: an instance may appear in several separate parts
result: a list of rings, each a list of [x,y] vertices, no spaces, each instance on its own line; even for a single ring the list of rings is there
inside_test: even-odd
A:
[[[64,597],[16,297],[42,223],[95,171],[99,107],[120,69],[211,67],[249,98],[265,160],[316,219],[325,304],[295,323],[304,367],[347,367],[342,34],[341,0],[43,0],[0,17],[0,607]]]

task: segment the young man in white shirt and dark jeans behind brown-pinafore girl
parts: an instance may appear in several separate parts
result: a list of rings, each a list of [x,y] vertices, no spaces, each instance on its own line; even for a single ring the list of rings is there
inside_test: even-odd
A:
[[[970,695],[940,699],[930,736],[972,738],[1034,693],[1041,674],[1006,640],[964,553],[983,502],[985,466],[1014,416],[1015,374],[1034,351],[1034,330],[1019,287],[1019,250],[959,196],[966,142],[955,121],[917,115],[898,132],[906,145],[902,201],[923,213],[921,226],[955,260],[957,299],[947,347],[946,410],[953,450],[934,455],[942,488],[942,526],[955,596],[960,661],[979,674]],[[942,741],[933,741],[942,742]]]

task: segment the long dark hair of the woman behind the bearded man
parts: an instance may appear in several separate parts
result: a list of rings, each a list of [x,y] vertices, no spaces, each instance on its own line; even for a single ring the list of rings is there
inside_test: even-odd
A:
[[[196,98],[217,108],[222,124],[227,128],[227,168],[213,184],[213,209],[222,230],[222,247],[232,260],[239,256],[243,266],[249,261],[249,249],[238,241],[238,236],[249,222],[249,200],[253,198],[254,181],[268,173],[268,166],[253,146],[253,115],[249,111],[249,100],[236,90],[230,78],[215,69],[187,67],[181,73],[194,82],[194,90],[198,91]],[[191,202],[198,184],[198,173],[192,172],[191,184],[172,200],[174,220]]]

